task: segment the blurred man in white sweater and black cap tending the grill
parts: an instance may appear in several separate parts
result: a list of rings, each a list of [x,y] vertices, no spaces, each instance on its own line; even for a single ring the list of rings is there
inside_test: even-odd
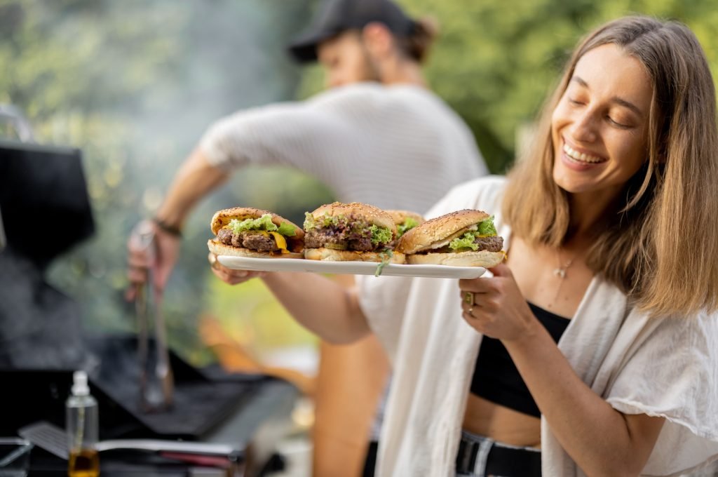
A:
[[[240,111],[208,129],[154,218],[155,286],[167,283],[188,212],[246,165],[289,165],[325,182],[342,202],[419,212],[453,185],[484,175],[470,130],[426,88],[421,62],[433,34],[388,0],[325,1],[290,51],[300,62],[319,60],[330,91]],[[144,282],[146,256],[130,246],[129,261],[131,282]],[[375,338],[322,344],[315,476],[360,473],[363,436],[387,374]]]

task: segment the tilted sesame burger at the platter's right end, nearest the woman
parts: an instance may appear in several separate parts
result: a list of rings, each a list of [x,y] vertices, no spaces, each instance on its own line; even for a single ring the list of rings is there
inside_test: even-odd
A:
[[[495,267],[505,258],[503,238],[493,216],[481,210],[457,210],[432,218],[406,232],[396,250],[409,264]]]

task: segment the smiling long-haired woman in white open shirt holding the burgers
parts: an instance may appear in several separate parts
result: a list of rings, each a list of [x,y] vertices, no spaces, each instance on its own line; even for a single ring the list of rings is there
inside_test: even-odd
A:
[[[344,295],[320,277],[265,277],[326,338],[370,328],[383,342],[394,381],[381,476],[668,476],[718,457],[704,52],[675,22],[610,22],[577,48],[539,131],[508,180],[460,185],[428,214],[495,212],[509,253],[492,277],[458,290],[361,277]]]

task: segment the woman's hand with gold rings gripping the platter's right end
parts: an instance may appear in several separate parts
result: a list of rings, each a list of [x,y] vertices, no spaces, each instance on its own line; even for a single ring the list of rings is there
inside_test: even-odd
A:
[[[462,317],[479,333],[501,341],[532,335],[538,320],[508,265],[499,264],[490,271],[492,278],[459,280]]]

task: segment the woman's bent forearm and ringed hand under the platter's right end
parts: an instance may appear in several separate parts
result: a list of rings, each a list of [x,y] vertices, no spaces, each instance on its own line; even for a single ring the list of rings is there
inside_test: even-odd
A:
[[[462,293],[475,293],[475,305],[462,305],[467,323],[502,341],[551,432],[587,475],[638,476],[663,418],[625,415],[593,392],[533,316],[510,269],[492,272],[460,282]]]

